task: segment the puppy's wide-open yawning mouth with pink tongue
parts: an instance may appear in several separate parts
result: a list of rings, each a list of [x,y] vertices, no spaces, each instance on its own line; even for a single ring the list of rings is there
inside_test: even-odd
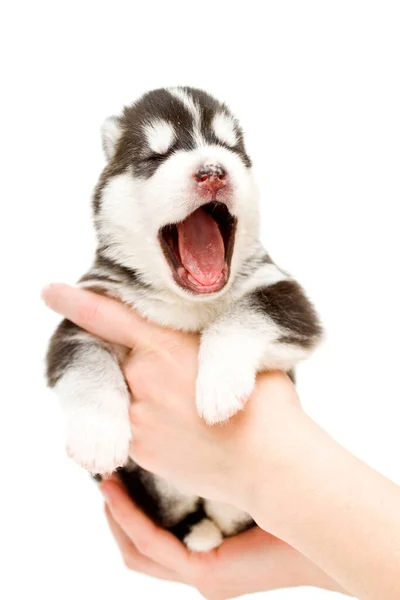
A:
[[[236,224],[225,204],[209,202],[184,221],[160,229],[161,248],[178,285],[196,294],[222,290],[229,279]]]

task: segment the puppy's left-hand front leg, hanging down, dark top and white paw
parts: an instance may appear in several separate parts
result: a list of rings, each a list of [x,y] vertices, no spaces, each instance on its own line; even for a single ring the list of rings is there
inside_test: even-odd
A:
[[[66,416],[67,450],[92,473],[111,473],[128,458],[130,396],[118,349],[64,320],[47,354],[47,377]]]

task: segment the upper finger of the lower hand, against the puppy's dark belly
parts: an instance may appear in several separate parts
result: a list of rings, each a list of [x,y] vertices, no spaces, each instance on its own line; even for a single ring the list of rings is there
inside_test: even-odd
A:
[[[100,489],[113,518],[137,550],[161,566],[184,575],[189,567],[189,552],[185,546],[144,515],[121,485],[105,481]]]

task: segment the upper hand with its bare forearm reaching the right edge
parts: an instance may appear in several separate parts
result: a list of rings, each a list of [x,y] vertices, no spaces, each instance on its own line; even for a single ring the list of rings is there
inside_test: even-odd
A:
[[[260,376],[245,411],[208,427],[194,406],[195,336],[168,332],[118,303],[68,286],[54,286],[44,297],[92,333],[135,347],[125,373],[134,396],[131,452],[138,464],[188,491],[246,510],[360,600],[400,597],[399,488],[305,415],[285,375]],[[103,490],[118,521],[124,497],[111,498],[118,494],[115,485],[105,483]],[[154,526],[150,532],[172,543]],[[131,536],[139,551],[157,561],[157,542],[151,546],[149,536],[140,541],[139,533]],[[172,563],[166,566],[174,571]]]

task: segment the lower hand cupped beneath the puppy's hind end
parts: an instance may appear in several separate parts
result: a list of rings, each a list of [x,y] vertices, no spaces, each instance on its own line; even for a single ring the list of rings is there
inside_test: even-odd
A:
[[[125,565],[133,571],[185,583],[209,600],[299,586],[344,593],[302,554],[258,527],[207,554],[191,553],[134,505],[115,476],[100,487],[110,529]]]

